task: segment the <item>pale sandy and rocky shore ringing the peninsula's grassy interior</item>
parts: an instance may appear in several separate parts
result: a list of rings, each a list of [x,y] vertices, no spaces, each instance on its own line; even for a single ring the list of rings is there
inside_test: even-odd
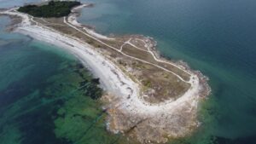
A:
[[[104,46],[104,44],[105,47],[113,47],[109,43],[112,43],[119,37],[102,36],[79,24],[76,20],[78,16],[77,10],[84,8],[84,6],[88,6],[88,4],[74,8],[72,14],[70,14],[67,19],[63,19],[63,23],[55,23],[55,25],[60,25],[60,27],[61,25],[69,26],[69,29],[73,28],[73,31],[79,32],[79,37],[90,37],[94,39],[92,43],[101,44],[99,45],[100,47]],[[140,42],[138,41],[141,40],[145,45],[137,49],[141,52],[145,51],[145,54],[153,55],[154,62],[156,61],[160,64],[166,63],[165,65],[171,65],[177,69],[176,71],[183,71],[184,76],[180,76],[179,73],[172,72],[167,67],[163,67],[164,65],[158,66],[160,70],[167,73],[171,72],[172,77],[177,76],[177,79],[190,84],[190,88],[177,99],[171,99],[170,101],[168,100],[156,104],[143,100],[141,96],[143,89],[141,82],[137,82],[137,78],[131,77],[129,72],[124,70],[122,66],[117,65],[115,59],[107,55],[107,49],[96,49],[95,45],[84,42],[79,37],[67,34],[64,30],[60,32],[53,27],[47,26],[50,25],[50,23],[47,23],[48,21],[44,22],[45,20],[40,19],[35,20],[36,18],[27,14],[21,14],[15,9],[5,10],[2,14],[8,14],[22,19],[13,29],[14,32],[20,32],[40,41],[66,49],[78,57],[78,59],[83,62],[84,66],[87,66],[96,77],[100,78],[101,84],[109,92],[108,95],[103,96],[103,99],[108,101],[105,106],[108,111],[108,130],[124,134],[132,130],[132,133],[129,132],[129,134],[126,135],[136,138],[137,141],[165,143],[168,139],[189,135],[200,125],[197,120],[198,102],[205,99],[211,91],[207,84],[207,78],[204,77],[201,72],[190,70],[186,65],[176,64],[160,58],[156,53],[156,44],[153,39],[150,40],[150,38],[143,36],[124,37],[123,39],[126,38],[129,39],[129,41],[125,41],[120,49],[110,49],[109,52],[113,51],[113,54],[115,54],[116,50],[117,53],[115,55],[125,55],[124,60],[128,58],[133,60],[134,58],[131,55],[127,56],[127,53],[123,52],[122,49],[125,49],[125,44],[135,48],[139,47]],[[132,43],[133,41],[131,40],[133,39],[138,39],[138,41],[134,41],[137,43]],[[116,45],[116,43],[113,44]],[[145,47],[145,49],[143,47]],[[143,63],[143,61],[146,62],[145,66],[157,66],[146,60],[140,60],[138,58],[134,60],[141,63]],[[186,75],[189,75],[188,80]],[[127,121],[128,119],[129,121]],[[183,121],[182,124],[181,121]],[[134,125],[137,126],[136,130],[133,130]],[[166,130],[162,130],[161,127],[165,127]],[[147,132],[151,129],[154,130],[152,133]],[[147,135],[143,133],[147,133]],[[153,136],[156,134],[157,136]]]

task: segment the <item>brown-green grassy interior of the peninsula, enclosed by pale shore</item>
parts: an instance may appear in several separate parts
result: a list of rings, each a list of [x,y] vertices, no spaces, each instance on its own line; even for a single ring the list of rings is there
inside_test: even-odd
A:
[[[154,60],[153,55],[148,53],[143,43],[135,40],[137,38],[143,39],[144,37],[142,36],[124,36],[114,37],[115,40],[101,40],[103,43],[115,48],[111,49],[107,45],[99,43],[91,37],[87,37],[82,32],[75,30],[73,27],[67,26],[67,24],[63,22],[63,18],[34,20],[37,20],[44,26],[54,28],[59,32],[72,35],[73,37],[78,37],[80,40],[92,45],[95,49],[100,50],[103,55],[108,57],[109,60],[112,60],[116,65],[120,66],[121,69],[133,80],[139,81],[142,88],[142,97],[145,101],[159,103],[170,99],[176,100],[190,88],[190,84],[184,82],[189,80],[189,74],[183,72],[183,70],[177,68],[176,66]],[[79,30],[85,32],[82,28],[79,28]],[[129,39],[131,40],[130,42],[139,49],[130,44],[125,44],[125,42],[127,42]],[[140,60],[134,60],[121,54],[119,52],[121,47],[122,53]],[[141,60],[148,61],[148,63]],[[167,72],[154,65],[163,67],[171,72]],[[183,78],[184,81],[177,78],[177,76],[172,72]]]

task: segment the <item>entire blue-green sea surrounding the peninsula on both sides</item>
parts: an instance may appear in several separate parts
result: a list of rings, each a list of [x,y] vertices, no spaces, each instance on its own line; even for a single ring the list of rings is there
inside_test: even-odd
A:
[[[0,0],[10,8],[39,0]],[[160,55],[209,78],[201,126],[169,144],[256,143],[254,0],[82,0],[79,22],[105,35],[154,37]],[[73,55],[6,32],[0,17],[0,144],[126,144],[106,130],[102,89]]]

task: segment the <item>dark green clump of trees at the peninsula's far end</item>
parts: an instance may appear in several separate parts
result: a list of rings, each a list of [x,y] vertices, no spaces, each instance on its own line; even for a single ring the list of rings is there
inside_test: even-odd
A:
[[[62,17],[71,13],[71,9],[81,3],[77,1],[50,1],[46,5],[26,5],[18,9],[19,12],[35,17]]]

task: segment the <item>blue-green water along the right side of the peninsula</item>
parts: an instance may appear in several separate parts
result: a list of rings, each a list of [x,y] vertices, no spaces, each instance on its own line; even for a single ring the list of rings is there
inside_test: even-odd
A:
[[[205,130],[195,135],[192,143],[207,143],[203,139],[255,143],[255,1],[91,2],[95,7],[84,9],[80,22],[96,26],[97,32],[107,35],[154,37],[162,55],[185,60],[210,78],[212,95],[203,112]]]

